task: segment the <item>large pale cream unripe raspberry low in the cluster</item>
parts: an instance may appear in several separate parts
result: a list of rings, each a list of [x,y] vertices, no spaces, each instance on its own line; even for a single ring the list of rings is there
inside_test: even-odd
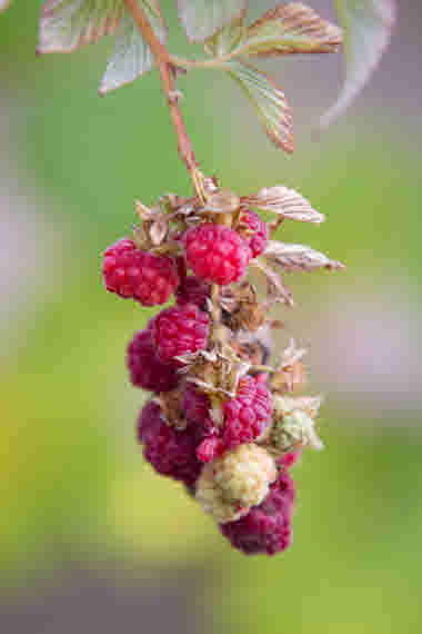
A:
[[[233,522],[261,504],[275,477],[274,459],[265,449],[239,445],[203,467],[197,501],[217,522]]]

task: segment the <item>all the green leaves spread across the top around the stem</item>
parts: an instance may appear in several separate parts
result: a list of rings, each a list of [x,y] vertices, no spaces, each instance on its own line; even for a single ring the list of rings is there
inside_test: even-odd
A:
[[[7,4],[3,2],[0,10]],[[168,31],[159,2],[141,0],[140,7],[155,36],[165,42]],[[204,62],[190,60],[188,67],[229,70],[254,106],[269,138],[291,152],[292,116],[284,95],[270,77],[245,65],[244,58],[334,52],[342,40],[341,30],[301,2],[278,4],[249,27],[244,24],[247,0],[178,0],[177,7],[189,40],[203,42],[211,56]],[[348,75],[343,92],[323,117],[323,125],[366,83],[390,40],[395,17],[394,0],[336,0],[336,8],[346,33]],[[40,53],[69,52],[104,34],[115,34],[114,53],[99,88],[101,95],[133,82],[153,66],[151,50],[124,0],[47,0],[39,32]],[[238,63],[234,58],[239,58]]]

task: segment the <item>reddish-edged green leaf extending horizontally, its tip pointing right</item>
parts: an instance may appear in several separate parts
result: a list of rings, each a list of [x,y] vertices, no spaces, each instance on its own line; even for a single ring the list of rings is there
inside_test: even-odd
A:
[[[248,56],[335,52],[342,41],[339,27],[322,20],[301,2],[279,4],[247,31],[241,52]]]

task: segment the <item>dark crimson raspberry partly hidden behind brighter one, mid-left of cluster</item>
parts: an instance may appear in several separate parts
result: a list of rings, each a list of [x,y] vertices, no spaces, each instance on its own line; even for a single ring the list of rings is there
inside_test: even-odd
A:
[[[168,392],[179,383],[173,365],[163,364],[157,357],[151,340],[151,330],[139,330],[128,346],[127,366],[135,387],[152,392]]]

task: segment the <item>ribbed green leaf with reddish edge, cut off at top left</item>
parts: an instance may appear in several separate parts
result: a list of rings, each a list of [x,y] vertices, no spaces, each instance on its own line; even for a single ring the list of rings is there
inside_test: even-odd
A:
[[[114,33],[123,7],[123,0],[47,0],[37,52],[70,52]]]

